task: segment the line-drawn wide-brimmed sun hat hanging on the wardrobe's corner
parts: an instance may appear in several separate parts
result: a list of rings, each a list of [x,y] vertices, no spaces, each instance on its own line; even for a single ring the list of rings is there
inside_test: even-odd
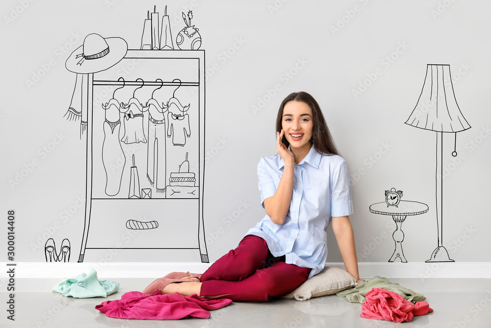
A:
[[[75,49],[66,60],[65,67],[74,73],[97,73],[117,64],[127,51],[128,44],[122,38],[104,38],[92,33],[85,37],[83,45]]]

